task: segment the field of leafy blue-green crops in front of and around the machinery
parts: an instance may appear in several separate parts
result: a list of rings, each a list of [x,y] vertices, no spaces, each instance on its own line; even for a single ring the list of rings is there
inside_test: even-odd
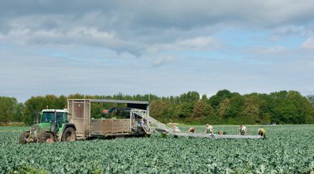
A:
[[[247,126],[248,134],[256,135],[259,127]],[[205,129],[195,128],[197,132]],[[313,125],[264,128],[266,139],[153,134],[26,145],[18,144],[21,132],[0,131],[0,173],[313,173]],[[238,126],[214,129],[237,134]]]

